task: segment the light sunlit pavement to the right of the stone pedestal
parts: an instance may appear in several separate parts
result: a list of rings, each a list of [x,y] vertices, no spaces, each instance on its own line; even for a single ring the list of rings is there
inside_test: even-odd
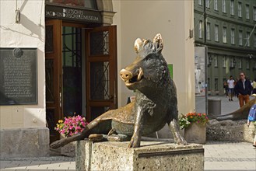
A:
[[[207,141],[205,170],[256,170],[256,148],[248,142]]]

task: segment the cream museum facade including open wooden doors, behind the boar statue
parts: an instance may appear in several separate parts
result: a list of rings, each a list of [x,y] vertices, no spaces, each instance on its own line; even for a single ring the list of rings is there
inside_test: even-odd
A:
[[[135,60],[138,37],[162,34],[163,56],[173,65],[179,113],[195,110],[194,39],[189,37],[193,1],[1,1],[0,8],[0,51],[9,51],[1,54],[0,65],[15,51],[24,52],[20,60],[37,58],[30,70],[36,72],[35,84],[20,79],[13,80],[15,85],[0,84],[1,157],[46,155],[50,139],[59,138],[54,131],[58,120],[76,113],[89,121],[124,106],[134,92],[118,73]],[[36,55],[27,54],[27,48]],[[17,69],[11,69],[18,72],[1,67],[1,82],[30,69],[23,63],[16,61]],[[30,75],[25,79],[29,84]],[[18,84],[36,87],[29,94],[36,99],[33,103],[24,103],[26,96],[20,103],[9,100],[9,93],[14,99],[21,93]]]

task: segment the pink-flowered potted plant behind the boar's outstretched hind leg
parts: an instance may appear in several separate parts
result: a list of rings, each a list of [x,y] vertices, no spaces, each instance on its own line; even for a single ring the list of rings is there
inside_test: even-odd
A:
[[[68,138],[74,134],[79,134],[80,132],[82,132],[87,124],[88,123],[86,122],[85,117],[77,115],[74,117],[65,117],[64,120],[58,120],[58,124],[56,124],[56,127],[54,127],[54,129],[61,134],[61,138]],[[61,147],[61,155],[74,157],[75,142]]]

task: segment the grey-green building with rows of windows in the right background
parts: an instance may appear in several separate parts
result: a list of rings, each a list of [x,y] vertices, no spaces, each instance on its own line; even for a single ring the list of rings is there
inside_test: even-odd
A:
[[[256,79],[256,2],[195,0],[195,46],[208,47],[209,94],[223,95],[223,84],[245,72]]]

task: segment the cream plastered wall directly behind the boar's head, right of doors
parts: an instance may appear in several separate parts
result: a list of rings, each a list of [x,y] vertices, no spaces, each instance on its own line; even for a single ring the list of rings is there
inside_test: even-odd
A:
[[[163,56],[174,65],[179,113],[195,110],[194,38],[189,30],[194,27],[194,1],[113,1],[114,24],[117,25],[117,69],[135,60],[136,38],[163,37]],[[124,106],[128,90],[118,78],[118,104]]]

